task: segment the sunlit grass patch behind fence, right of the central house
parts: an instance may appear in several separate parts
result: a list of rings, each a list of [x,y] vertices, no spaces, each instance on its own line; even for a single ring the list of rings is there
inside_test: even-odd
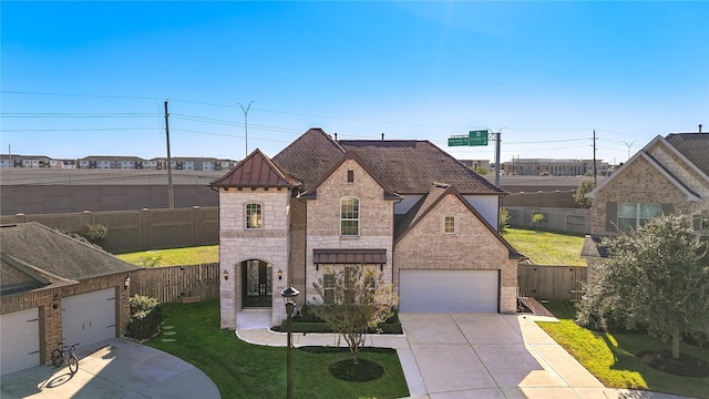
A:
[[[503,236],[537,265],[586,266],[580,257],[584,246],[580,235],[507,227]]]

